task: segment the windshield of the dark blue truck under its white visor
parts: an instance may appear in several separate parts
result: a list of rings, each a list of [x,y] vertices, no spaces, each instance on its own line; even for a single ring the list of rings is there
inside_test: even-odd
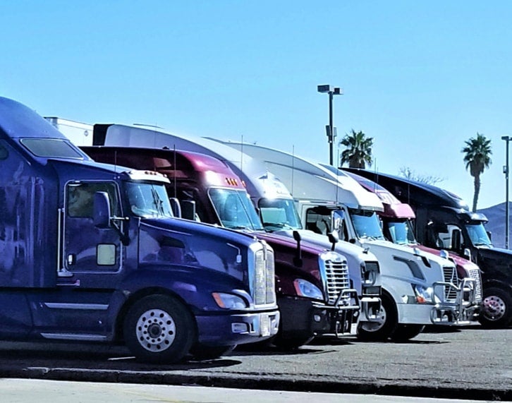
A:
[[[130,210],[142,218],[173,217],[164,185],[147,182],[126,182]]]

